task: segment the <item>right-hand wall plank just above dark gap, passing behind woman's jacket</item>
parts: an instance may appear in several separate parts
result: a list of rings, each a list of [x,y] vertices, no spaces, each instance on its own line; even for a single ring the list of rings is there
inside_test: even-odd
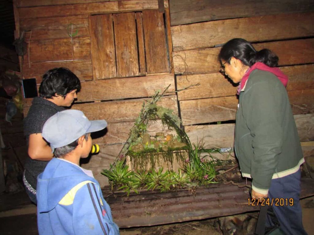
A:
[[[288,91],[293,114],[314,113],[314,89]],[[235,120],[236,96],[180,101],[183,125]]]

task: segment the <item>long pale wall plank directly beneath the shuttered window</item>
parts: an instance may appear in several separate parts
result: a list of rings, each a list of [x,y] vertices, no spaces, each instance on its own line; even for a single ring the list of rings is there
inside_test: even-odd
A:
[[[169,85],[168,92],[175,91],[173,74],[86,81],[81,85],[78,102],[150,97]]]

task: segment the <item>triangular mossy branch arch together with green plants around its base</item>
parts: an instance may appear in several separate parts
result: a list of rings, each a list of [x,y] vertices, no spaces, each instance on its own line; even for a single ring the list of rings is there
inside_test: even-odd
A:
[[[141,112],[134,126],[131,128],[130,136],[120,151],[119,157],[110,165],[109,170],[103,170],[101,172],[101,174],[108,177],[112,190],[114,188],[123,190],[127,192],[127,194],[129,194],[131,190],[138,193],[139,190],[142,189],[165,192],[185,188],[194,190],[200,185],[215,183],[215,165],[219,162],[214,161],[210,153],[218,151],[218,149],[212,147],[206,148],[203,142],[191,144],[187,133],[180,128],[180,118],[174,114],[171,109],[156,105],[156,102],[165,91],[161,94],[157,92],[150,102],[147,104],[145,104],[145,102],[143,103]],[[174,145],[170,145],[167,146],[167,150],[164,150],[162,147],[165,146],[156,146],[156,143],[151,142],[149,135],[147,136],[149,140],[147,146],[143,146],[148,121],[155,119],[161,119],[165,126],[176,131],[177,139],[173,142],[176,142],[176,144],[180,142],[179,144],[181,146],[179,146],[178,149],[176,149]],[[147,154],[150,154],[150,157],[152,157],[152,155],[154,157],[155,152],[162,152],[165,158],[168,156],[173,158],[173,151],[182,149],[188,152],[188,159],[185,160],[185,164],[178,172],[169,170],[163,171],[162,168],[155,170],[154,167],[150,170],[140,169],[137,172],[133,172],[130,171],[126,165],[126,156],[143,157],[147,159]],[[151,160],[150,162],[154,161]],[[146,163],[144,162],[141,165],[146,165]]]

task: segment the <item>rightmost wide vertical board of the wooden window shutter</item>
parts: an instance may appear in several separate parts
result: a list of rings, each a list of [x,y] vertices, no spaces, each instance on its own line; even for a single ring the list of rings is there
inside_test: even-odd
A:
[[[158,10],[143,11],[147,73],[169,72],[165,24]]]

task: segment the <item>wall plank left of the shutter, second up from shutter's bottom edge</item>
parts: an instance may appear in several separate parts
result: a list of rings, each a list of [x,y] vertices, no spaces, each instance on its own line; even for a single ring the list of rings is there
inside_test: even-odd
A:
[[[44,62],[44,61],[61,61],[61,60],[82,60],[90,59],[90,38],[73,38],[71,39],[48,39],[41,41],[31,41],[30,56],[24,55],[24,63]],[[72,54],[73,52],[73,54]]]

